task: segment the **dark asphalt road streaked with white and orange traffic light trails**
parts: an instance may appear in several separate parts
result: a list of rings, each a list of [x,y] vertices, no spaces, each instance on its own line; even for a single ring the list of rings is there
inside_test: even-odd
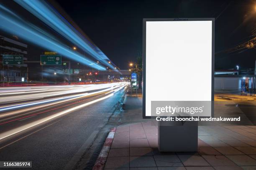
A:
[[[72,169],[108,122],[125,85],[1,89],[0,161],[32,161],[30,170]]]

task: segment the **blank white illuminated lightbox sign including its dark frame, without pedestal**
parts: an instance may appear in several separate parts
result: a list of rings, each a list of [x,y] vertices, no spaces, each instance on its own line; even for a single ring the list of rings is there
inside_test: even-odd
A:
[[[214,18],[143,20],[143,118],[213,115]]]

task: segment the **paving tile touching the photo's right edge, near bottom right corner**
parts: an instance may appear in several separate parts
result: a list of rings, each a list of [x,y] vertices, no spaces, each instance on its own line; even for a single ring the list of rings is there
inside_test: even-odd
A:
[[[256,160],[249,157],[248,155],[226,155],[230,160],[239,166],[251,166],[256,165]]]

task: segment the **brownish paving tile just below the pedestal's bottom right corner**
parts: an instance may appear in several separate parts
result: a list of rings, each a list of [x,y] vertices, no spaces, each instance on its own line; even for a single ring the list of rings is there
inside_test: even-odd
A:
[[[178,155],[184,166],[210,166],[199,155]]]

